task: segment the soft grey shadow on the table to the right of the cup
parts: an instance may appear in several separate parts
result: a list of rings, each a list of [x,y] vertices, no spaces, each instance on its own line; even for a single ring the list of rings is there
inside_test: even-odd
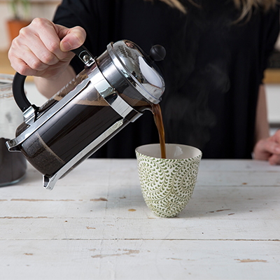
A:
[[[279,207],[280,194],[274,187],[198,187],[179,218],[252,216]]]

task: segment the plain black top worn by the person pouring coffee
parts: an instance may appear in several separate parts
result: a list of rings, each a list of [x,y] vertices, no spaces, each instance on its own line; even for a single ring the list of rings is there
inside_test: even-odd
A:
[[[64,0],[54,22],[83,27],[85,46],[97,57],[121,39],[146,52],[163,45],[166,142],[196,146],[203,158],[251,158],[258,87],[279,34],[279,8],[253,10],[250,20],[234,24],[233,1],[201,0],[201,8],[185,2],[186,14],[161,1]],[[78,57],[71,63],[77,73],[83,69]],[[94,156],[134,158],[134,148],[158,142],[146,111]]]

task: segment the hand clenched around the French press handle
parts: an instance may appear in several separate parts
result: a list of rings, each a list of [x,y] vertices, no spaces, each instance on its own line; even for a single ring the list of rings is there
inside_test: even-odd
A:
[[[35,18],[20,30],[8,52],[10,64],[25,76],[59,77],[73,58],[73,50],[83,45],[85,30],[68,29],[44,18]]]

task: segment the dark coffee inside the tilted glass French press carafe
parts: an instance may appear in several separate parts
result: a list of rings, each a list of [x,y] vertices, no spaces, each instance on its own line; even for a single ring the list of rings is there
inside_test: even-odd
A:
[[[63,95],[63,90],[58,92],[38,111],[58,102]],[[120,120],[118,113],[106,103],[93,85],[89,85],[57,111],[44,126],[38,127],[21,144],[21,151],[39,172],[51,176]]]

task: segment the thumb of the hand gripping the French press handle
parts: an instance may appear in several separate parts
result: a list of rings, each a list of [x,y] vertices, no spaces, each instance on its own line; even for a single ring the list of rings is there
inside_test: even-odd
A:
[[[85,42],[85,29],[82,27],[66,28],[61,25],[57,25],[57,35],[62,41],[60,41],[60,50],[62,52],[68,52],[80,47]]]

